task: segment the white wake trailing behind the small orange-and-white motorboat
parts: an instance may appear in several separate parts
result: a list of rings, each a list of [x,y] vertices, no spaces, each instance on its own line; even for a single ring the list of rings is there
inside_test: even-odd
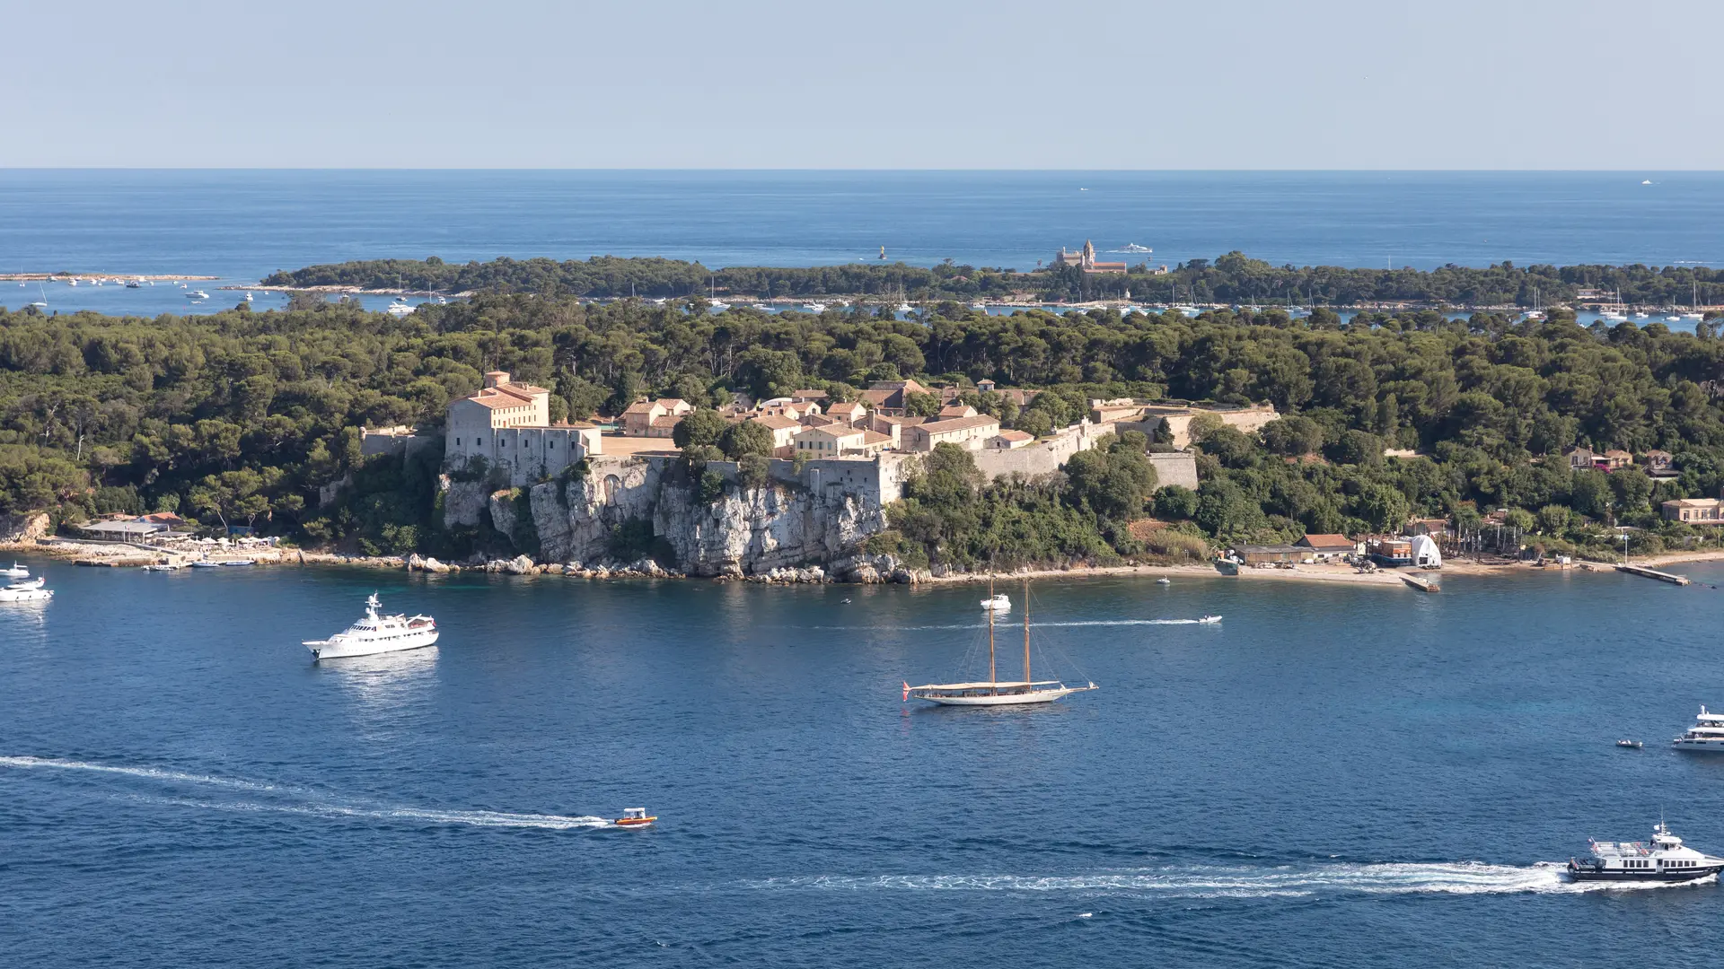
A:
[[[131,795],[145,803],[166,803],[205,810],[234,812],[271,812],[300,814],[312,817],[352,817],[383,822],[469,826],[469,828],[538,828],[550,831],[569,831],[578,828],[615,828],[605,817],[567,816],[567,814],[517,814],[507,810],[438,810],[410,805],[388,805],[359,798],[341,798],[309,788],[269,785],[240,778],[217,778],[212,774],[193,774],[166,767],[126,767],[114,764],[91,764],[88,760],[59,760],[52,757],[0,757],[0,767],[79,771],[91,774],[138,778],[167,785],[198,785],[207,788],[224,788],[234,791],[252,791],[272,795],[278,800],[195,800],[160,795]]]

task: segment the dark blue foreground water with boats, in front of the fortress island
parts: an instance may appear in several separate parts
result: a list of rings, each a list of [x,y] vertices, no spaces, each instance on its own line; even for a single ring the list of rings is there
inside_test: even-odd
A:
[[[0,607],[10,966],[1624,966],[1724,941],[1717,885],[1540,866],[1660,814],[1724,850],[1724,759],[1664,743],[1724,702],[1719,566],[1434,597],[1040,583],[1038,669],[1102,688],[1015,710],[900,702],[978,659],[974,586],[33,566],[57,597]],[[372,588],[443,641],[310,664],[298,640]],[[603,824],[640,805],[655,829]]]

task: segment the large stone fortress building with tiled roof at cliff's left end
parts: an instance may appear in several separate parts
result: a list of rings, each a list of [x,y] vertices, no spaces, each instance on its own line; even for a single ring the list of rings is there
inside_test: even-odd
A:
[[[550,426],[550,391],[512,383],[507,371],[484,374],[479,393],[448,405],[443,462],[457,466],[483,457],[491,467],[509,469],[510,486],[555,478],[602,450],[598,428]]]

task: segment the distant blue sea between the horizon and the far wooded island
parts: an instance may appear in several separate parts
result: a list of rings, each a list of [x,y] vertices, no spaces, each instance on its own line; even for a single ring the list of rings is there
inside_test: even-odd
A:
[[[1650,181],[1652,184],[1643,184]],[[210,300],[347,259],[660,255],[1034,269],[1062,245],[1183,262],[1724,264],[1719,172],[0,171],[0,272],[209,274]],[[0,303],[183,312],[178,288]],[[197,286],[193,286],[197,288]],[[279,297],[257,295],[259,307]],[[1141,295],[1153,298],[1153,293]],[[378,303],[381,307],[381,302]]]

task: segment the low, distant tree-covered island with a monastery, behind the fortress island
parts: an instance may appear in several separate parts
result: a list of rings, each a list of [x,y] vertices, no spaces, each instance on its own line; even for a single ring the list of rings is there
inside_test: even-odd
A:
[[[1346,269],[1271,266],[1229,252],[1167,267],[1146,262],[1127,272],[1083,272],[1076,266],[1036,271],[855,262],[815,267],[726,267],[672,259],[588,260],[498,259],[450,264],[431,257],[340,262],[283,271],[265,286],[422,290],[443,293],[534,293],[584,298],[814,298],[1119,300],[1129,291],[1148,302],[1227,305],[1409,305],[1531,307],[1534,303],[1615,303],[1645,307],[1724,303],[1724,272],[1705,266],[1443,266],[1441,269]]]

